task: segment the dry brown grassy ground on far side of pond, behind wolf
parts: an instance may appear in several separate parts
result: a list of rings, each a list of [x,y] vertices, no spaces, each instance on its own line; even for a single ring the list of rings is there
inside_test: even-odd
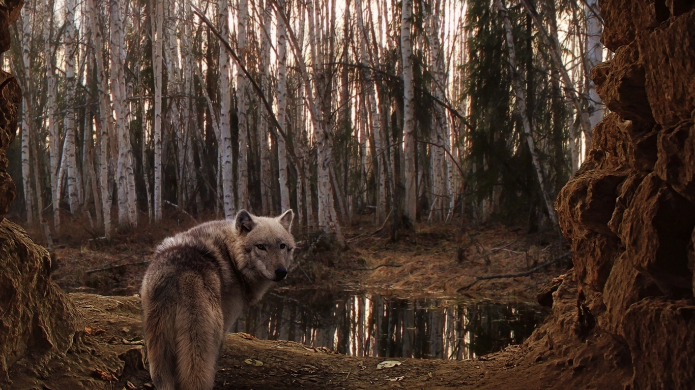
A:
[[[186,228],[144,229],[119,235],[108,244],[99,239],[63,239],[54,248],[53,278],[70,292],[137,294],[158,243]],[[346,229],[345,249],[327,246],[316,235],[295,235],[295,264],[283,284],[400,298],[534,302],[540,286],[571,266],[566,241],[553,232],[423,223],[392,242],[388,232],[374,234],[375,230],[373,226]],[[544,267],[548,262],[552,264]],[[528,271],[530,275],[477,280]]]

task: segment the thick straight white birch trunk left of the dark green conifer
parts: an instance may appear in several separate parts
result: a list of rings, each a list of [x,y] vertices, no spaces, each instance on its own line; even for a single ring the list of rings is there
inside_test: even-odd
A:
[[[411,48],[410,26],[412,22],[413,1],[402,0],[400,19],[400,47],[403,65],[403,137],[405,160],[405,209],[404,216],[414,226],[417,213],[417,172],[415,167],[415,96],[413,86],[413,51]]]

